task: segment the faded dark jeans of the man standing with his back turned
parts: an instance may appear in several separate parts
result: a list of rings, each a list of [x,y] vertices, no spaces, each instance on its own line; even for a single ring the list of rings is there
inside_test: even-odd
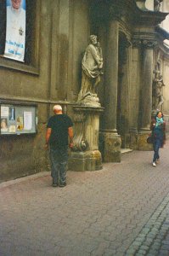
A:
[[[50,148],[51,176],[54,184],[66,182],[66,167],[68,160],[68,147]]]

